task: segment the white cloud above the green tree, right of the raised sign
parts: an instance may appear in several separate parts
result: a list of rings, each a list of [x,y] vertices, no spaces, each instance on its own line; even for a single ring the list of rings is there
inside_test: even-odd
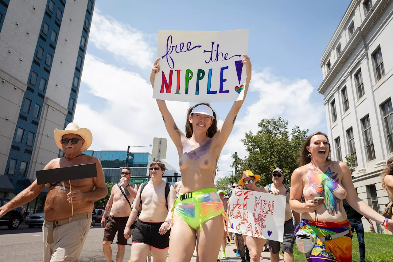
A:
[[[321,125],[324,120],[323,105],[314,103],[311,99],[314,87],[307,79],[289,80],[276,77],[269,69],[253,72],[248,97],[258,96],[258,101],[251,105],[243,104],[242,111],[247,110],[246,116],[237,118],[235,127],[222,150],[219,159],[220,170],[231,170],[231,156],[237,152],[239,157],[247,155],[240,139],[244,133],[258,130],[258,123],[263,118],[281,116],[288,120],[288,128],[299,125],[301,129],[311,129]],[[246,99],[246,102],[248,100]],[[224,172],[219,172],[222,176]]]

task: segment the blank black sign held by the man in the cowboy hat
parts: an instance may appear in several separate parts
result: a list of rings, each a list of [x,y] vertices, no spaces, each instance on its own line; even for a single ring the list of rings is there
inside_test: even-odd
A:
[[[37,175],[37,184],[43,185],[61,181],[97,177],[97,166],[95,163],[66,166],[62,168],[38,170],[35,174]]]

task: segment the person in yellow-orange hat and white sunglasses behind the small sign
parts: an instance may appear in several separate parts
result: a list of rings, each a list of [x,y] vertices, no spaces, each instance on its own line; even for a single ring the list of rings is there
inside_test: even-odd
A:
[[[247,190],[257,191],[262,193],[268,193],[263,187],[257,187],[256,183],[261,179],[260,175],[254,175],[250,170],[243,171],[242,179],[239,180],[238,184],[246,186]],[[263,246],[266,243],[266,239],[257,238],[254,236],[243,235],[244,242],[246,243],[248,250],[250,250],[251,262],[259,262],[259,258],[262,253]]]

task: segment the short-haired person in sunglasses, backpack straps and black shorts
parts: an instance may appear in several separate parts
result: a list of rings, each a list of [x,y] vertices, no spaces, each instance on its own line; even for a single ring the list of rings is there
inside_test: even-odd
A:
[[[149,169],[151,181],[139,187],[134,208],[124,229],[124,237],[129,239],[130,227],[140,212],[132,233],[131,262],[145,262],[150,252],[154,262],[165,262],[168,255],[171,232],[169,218],[176,192],[171,184],[162,180],[165,171],[163,162],[153,161]]]

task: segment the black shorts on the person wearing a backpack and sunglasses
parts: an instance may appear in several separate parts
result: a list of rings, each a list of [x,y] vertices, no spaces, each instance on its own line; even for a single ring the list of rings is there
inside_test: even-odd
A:
[[[134,233],[132,233],[132,243],[143,243],[156,249],[168,249],[171,230],[160,235],[158,230],[162,223],[163,222],[147,223],[138,220],[135,225]]]

